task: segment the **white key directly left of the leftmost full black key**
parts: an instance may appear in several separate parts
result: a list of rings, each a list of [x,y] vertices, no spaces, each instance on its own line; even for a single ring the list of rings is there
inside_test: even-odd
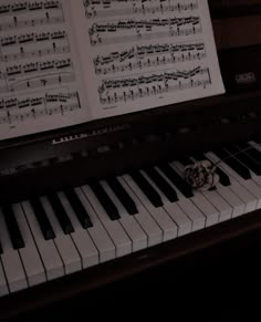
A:
[[[0,210],[0,238],[3,253],[1,255],[10,292],[17,292],[28,288],[27,277],[18,250],[12,248],[8,228]]]

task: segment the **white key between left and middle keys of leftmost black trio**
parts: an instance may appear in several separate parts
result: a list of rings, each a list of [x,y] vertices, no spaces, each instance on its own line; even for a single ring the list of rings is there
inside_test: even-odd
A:
[[[80,271],[82,269],[82,261],[71,236],[63,232],[62,227],[48,198],[41,197],[40,200],[56,236],[53,241],[56,245],[59,253],[64,263],[65,274]]]

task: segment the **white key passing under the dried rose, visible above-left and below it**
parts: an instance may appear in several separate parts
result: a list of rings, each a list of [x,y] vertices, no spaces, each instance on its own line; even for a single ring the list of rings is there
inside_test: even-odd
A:
[[[185,167],[179,162],[173,162],[170,164],[176,170],[182,175]],[[219,211],[213,207],[203,194],[199,191],[194,191],[194,197],[190,200],[199,208],[199,210],[206,216],[206,227],[216,225],[219,222]]]

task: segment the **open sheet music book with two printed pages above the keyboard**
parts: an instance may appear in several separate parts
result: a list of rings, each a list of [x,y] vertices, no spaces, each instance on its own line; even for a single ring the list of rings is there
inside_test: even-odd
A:
[[[207,0],[0,1],[0,139],[223,92]]]

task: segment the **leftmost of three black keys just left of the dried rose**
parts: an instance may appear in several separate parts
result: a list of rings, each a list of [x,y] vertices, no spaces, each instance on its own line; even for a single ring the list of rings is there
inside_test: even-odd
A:
[[[139,173],[139,172],[130,172],[129,176],[137,184],[137,186],[143,190],[143,193],[147,196],[149,201],[155,207],[163,207],[163,200],[159,194],[154,189],[154,187],[149,184],[149,181]]]

